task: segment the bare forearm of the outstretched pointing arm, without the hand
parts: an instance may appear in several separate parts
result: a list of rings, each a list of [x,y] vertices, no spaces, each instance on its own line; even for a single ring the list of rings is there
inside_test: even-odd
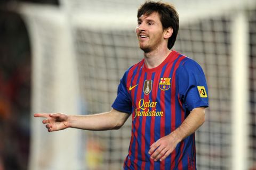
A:
[[[118,113],[112,109],[109,112],[93,115],[70,115],[66,124],[69,128],[83,130],[112,130],[121,128],[127,119],[125,116],[125,113]]]

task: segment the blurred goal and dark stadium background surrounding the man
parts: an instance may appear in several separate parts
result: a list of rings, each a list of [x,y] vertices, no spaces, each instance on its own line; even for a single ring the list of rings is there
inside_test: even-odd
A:
[[[196,132],[198,169],[255,169],[256,2],[168,1],[180,14],[174,49],[204,69],[210,108]],[[143,1],[1,1],[0,169],[121,169],[118,131],[47,133],[36,112],[91,114],[113,102],[142,58]]]

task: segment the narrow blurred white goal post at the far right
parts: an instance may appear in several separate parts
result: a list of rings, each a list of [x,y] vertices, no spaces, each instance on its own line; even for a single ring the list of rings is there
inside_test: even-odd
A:
[[[232,54],[232,166],[249,169],[249,15],[237,10],[231,23]]]

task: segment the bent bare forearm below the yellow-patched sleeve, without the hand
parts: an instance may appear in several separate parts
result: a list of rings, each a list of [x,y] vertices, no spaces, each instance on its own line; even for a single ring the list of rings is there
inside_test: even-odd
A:
[[[191,111],[183,123],[173,131],[170,135],[174,137],[177,142],[182,141],[188,135],[194,133],[205,121],[205,108],[198,107]]]

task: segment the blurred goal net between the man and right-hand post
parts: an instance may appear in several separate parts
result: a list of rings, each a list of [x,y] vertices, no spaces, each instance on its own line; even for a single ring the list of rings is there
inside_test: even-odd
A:
[[[230,167],[230,18],[217,17],[181,27],[175,49],[194,58],[209,88],[206,121],[196,132],[198,169]]]

